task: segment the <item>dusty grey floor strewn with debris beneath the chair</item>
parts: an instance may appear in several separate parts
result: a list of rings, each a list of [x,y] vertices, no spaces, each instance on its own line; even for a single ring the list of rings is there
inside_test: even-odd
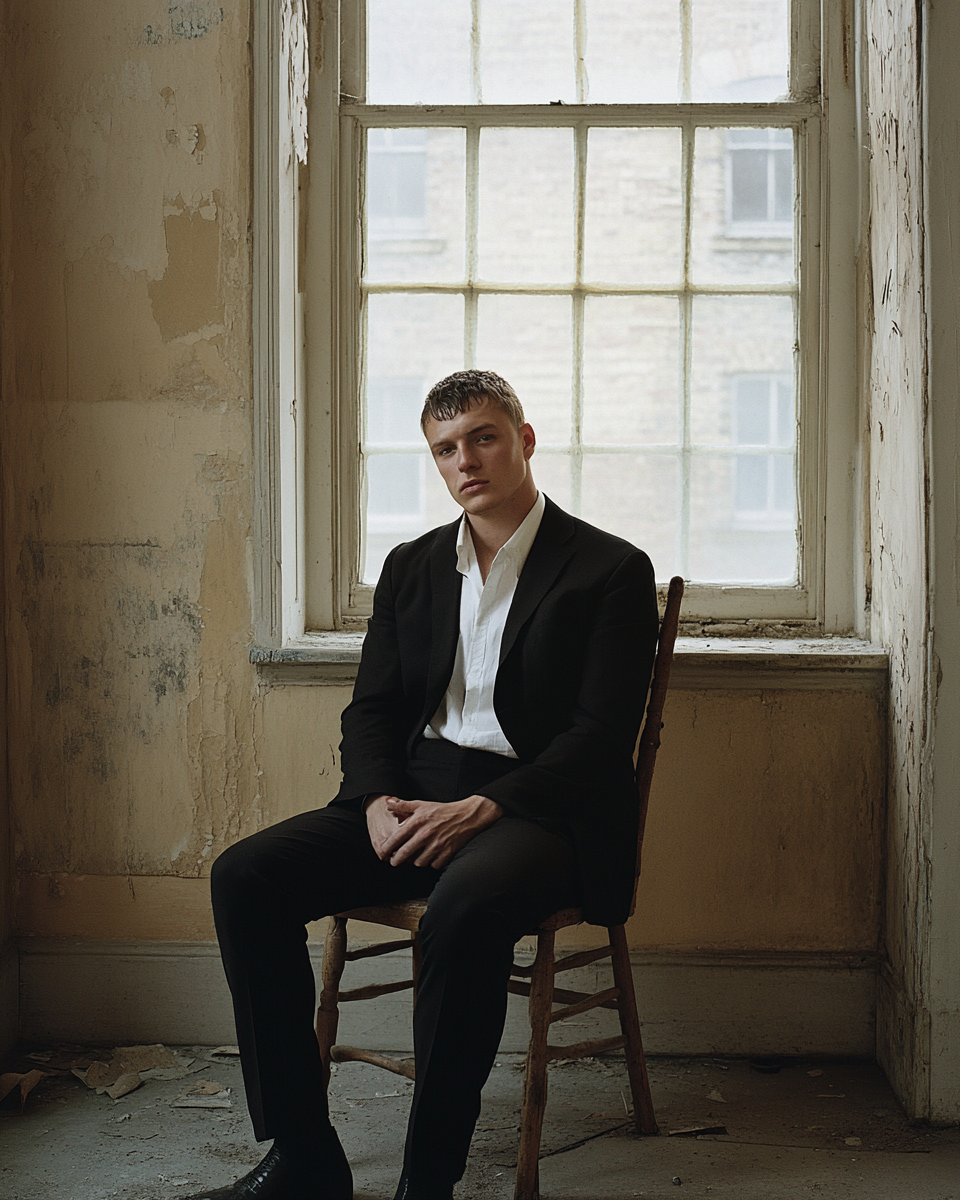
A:
[[[32,1049],[54,1051],[49,1068],[77,1048]],[[199,1066],[208,1051],[181,1052]],[[38,1066],[22,1058],[4,1070]],[[512,1196],[520,1066],[520,1055],[503,1054],[491,1075],[458,1200]],[[198,1080],[229,1088],[232,1106],[173,1106]],[[638,1138],[623,1124],[622,1057],[553,1067],[545,1200],[960,1200],[960,1132],[911,1126],[875,1066],[785,1061],[776,1074],[761,1074],[743,1060],[654,1058],[650,1080],[665,1133],[709,1123],[727,1134]],[[334,1076],[331,1109],[358,1200],[394,1194],[410,1088],[364,1064],[344,1064]],[[53,1074],[23,1114],[12,1097],[0,1108],[4,1200],[173,1200],[229,1182],[263,1151],[248,1129],[235,1060],[181,1080],[146,1080],[118,1100]]]

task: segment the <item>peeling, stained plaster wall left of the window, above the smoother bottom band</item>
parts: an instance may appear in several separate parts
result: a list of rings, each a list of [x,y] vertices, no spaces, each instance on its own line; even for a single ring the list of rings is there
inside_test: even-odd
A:
[[[4,446],[20,869],[257,823],[247,8],[10,5]]]

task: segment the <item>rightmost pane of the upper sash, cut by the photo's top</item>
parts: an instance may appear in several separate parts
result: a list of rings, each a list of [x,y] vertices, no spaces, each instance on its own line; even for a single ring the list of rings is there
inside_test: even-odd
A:
[[[776,100],[787,90],[790,0],[691,0],[695,101]]]

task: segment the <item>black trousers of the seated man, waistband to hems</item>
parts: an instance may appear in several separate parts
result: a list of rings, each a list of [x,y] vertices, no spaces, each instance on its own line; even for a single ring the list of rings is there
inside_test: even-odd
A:
[[[404,798],[462,799],[515,766],[502,755],[424,739],[408,764]],[[580,902],[565,828],[506,816],[436,871],[380,862],[362,812],[318,809],[232,846],[214,864],[211,882],[258,1140],[308,1136],[328,1120],[306,922],[430,896],[420,924],[416,1084],[404,1168],[414,1182],[458,1180],[503,1033],[514,944],[552,912]]]

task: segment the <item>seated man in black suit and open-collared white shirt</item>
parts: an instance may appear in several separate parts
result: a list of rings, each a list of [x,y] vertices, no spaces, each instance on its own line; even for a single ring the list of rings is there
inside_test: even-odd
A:
[[[274,1147],[217,1200],[349,1200],[313,1034],[305,923],[430,896],[416,1085],[395,1200],[451,1200],[516,941],[556,912],[625,919],[632,751],[658,631],[650,562],[538,493],[514,390],[460,371],[421,426],[463,517],[388,557],[325,809],[214,868],[247,1103]]]

